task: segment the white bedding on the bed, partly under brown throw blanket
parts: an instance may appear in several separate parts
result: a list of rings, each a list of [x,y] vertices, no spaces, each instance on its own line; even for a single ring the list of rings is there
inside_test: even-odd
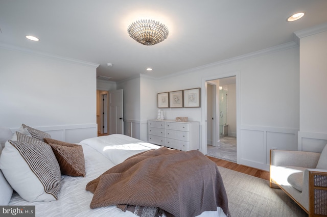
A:
[[[134,213],[123,212],[116,206],[90,209],[93,194],[86,191],[86,184],[100,176],[109,168],[124,161],[126,158],[160,146],[145,143],[141,140],[114,134],[83,140],[85,157],[85,177],[62,175],[61,189],[57,201],[27,202],[14,194],[9,205],[35,205],[36,216],[136,216]],[[205,211],[200,216],[226,216],[220,207],[217,211]]]

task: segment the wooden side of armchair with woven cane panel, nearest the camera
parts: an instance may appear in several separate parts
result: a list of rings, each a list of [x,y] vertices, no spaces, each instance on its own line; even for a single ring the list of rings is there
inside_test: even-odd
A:
[[[309,216],[327,215],[327,170],[315,170],[309,170]]]

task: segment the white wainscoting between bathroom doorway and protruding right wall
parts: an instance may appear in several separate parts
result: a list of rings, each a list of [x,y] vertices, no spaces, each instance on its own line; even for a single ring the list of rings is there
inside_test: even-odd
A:
[[[241,126],[238,164],[269,171],[270,149],[297,150],[298,129]]]

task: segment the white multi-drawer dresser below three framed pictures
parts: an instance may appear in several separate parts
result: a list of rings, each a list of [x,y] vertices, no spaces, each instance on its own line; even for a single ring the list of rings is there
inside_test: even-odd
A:
[[[200,123],[198,121],[149,120],[149,143],[182,151],[200,148]]]

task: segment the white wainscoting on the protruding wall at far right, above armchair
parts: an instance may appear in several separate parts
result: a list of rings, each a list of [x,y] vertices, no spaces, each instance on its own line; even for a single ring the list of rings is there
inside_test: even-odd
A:
[[[327,144],[327,133],[298,131],[298,150],[321,153]]]

